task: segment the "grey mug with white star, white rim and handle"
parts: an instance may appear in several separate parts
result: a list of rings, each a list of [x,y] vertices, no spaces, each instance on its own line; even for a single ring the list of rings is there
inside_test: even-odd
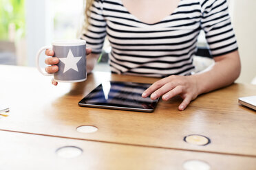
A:
[[[43,75],[54,75],[56,82],[83,82],[86,73],[86,41],[85,40],[55,40],[52,46],[39,49],[36,55],[36,66]],[[39,66],[39,57],[42,51],[52,49],[54,57],[58,58],[58,71],[45,73]]]

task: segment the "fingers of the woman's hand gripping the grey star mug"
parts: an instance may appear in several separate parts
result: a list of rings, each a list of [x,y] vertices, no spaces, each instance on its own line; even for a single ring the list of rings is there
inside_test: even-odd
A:
[[[92,49],[87,48],[86,49],[86,55],[89,55],[90,53],[92,53]],[[54,51],[47,49],[45,51],[45,55],[46,56],[54,56]],[[52,58],[46,58],[45,59],[45,64],[49,64],[51,66],[47,66],[45,67],[45,71],[47,73],[56,73],[58,71],[58,66],[56,64],[58,64],[59,60],[56,57],[52,57]],[[56,86],[58,84],[58,82],[54,81],[54,79],[52,79],[52,84],[54,86]]]

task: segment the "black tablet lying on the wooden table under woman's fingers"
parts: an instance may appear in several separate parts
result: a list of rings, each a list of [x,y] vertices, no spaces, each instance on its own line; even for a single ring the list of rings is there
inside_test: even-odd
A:
[[[158,99],[141,97],[151,84],[104,82],[78,102],[79,106],[153,112]]]

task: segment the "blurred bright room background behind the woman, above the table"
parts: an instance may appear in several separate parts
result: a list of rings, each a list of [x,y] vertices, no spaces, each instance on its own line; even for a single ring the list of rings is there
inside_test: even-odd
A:
[[[256,1],[229,0],[231,20],[242,60],[237,82],[256,84]],[[0,0],[0,64],[35,66],[36,52],[52,40],[78,38],[83,25],[85,0]],[[212,60],[204,34],[198,39],[198,71]],[[109,71],[108,43],[96,70]]]

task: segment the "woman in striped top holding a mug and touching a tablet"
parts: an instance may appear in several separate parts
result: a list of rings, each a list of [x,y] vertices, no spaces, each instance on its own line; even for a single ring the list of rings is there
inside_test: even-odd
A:
[[[87,1],[87,71],[92,71],[105,36],[112,47],[111,71],[163,77],[142,94],[163,100],[180,95],[184,110],[202,93],[232,84],[240,73],[237,42],[226,0],[95,0]],[[193,74],[193,54],[200,29],[206,34],[215,64]],[[53,56],[54,51],[46,51]],[[47,58],[46,64],[57,64]],[[48,73],[58,66],[48,66]],[[52,81],[56,85],[57,82]]]

